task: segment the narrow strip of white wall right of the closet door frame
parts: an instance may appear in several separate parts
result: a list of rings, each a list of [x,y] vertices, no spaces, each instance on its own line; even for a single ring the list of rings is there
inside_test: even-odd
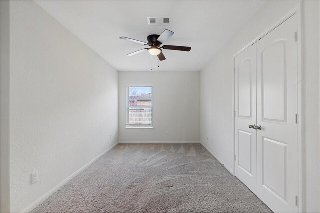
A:
[[[303,78],[305,202],[308,212],[320,212],[319,142],[319,1],[303,2]]]

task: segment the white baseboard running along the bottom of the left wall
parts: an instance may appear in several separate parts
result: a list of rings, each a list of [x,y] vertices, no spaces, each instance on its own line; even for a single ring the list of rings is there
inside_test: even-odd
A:
[[[69,177],[67,177],[66,179],[64,179],[62,182],[60,182],[58,185],[56,185],[55,187],[53,187],[52,189],[50,189],[48,192],[46,192],[44,195],[42,195],[40,198],[36,199],[32,204],[30,204],[29,206],[27,206],[26,208],[24,208],[20,213],[28,213],[30,212],[32,209],[34,209],[36,206],[38,206],[39,204],[41,204],[44,200],[46,200],[49,196],[51,196],[53,193],[55,193],[56,191],[58,191],[61,187],[63,187],[63,185],[65,185],[67,182],[69,182],[71,179],[73,179],[75,176],[77,176],[80,172],[82,172],[83,170],[85,170],[86,168],[88,168],[94,161],[96,161],[97,159],[99,159],[102,155],[104,155],[105,153],[107,153],[108,151],[110,151],[113,147],[115,147],[117,145],[117,143],[113,144],[111,147],[107,148],[105,151],[103,151],[101,154],[99,154],[98,156],[96,156],[95,158],[93,158],[90,162],[88,162],[87,164],[85,164],[83,167],[81,167],[80,169],[78,169],[77,171],[75,171],[72,175],[70,175]]]

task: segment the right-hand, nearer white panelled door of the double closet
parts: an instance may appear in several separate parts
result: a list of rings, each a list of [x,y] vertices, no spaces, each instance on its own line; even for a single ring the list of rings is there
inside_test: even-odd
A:
[[[256,43],[257,195],[274,212],[297,212],[296,14]]]

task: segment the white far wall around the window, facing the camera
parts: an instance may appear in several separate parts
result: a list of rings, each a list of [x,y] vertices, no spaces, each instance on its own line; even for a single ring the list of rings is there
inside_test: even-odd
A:
[[[125,129],[127,84],[153,85],[154,129]],[[119,141],[199,141],[199,94],[199,72],[119,72]]]

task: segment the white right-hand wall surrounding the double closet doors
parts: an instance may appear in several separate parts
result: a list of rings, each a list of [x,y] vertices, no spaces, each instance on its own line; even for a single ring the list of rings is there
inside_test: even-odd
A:
[[[233,171],[233,55],[270,28],[299,1],[268,1],[201,71],[201,141]],[[302,3],[305,210],[320,212],[319,182],[319,10],[318,1]],[[209,136],[209,139],[206,139]]]

